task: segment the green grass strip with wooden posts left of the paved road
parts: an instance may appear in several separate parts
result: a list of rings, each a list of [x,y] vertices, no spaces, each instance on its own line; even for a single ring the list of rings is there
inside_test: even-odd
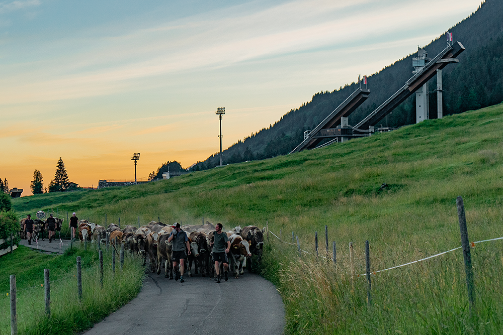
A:
[[[77,295],[76,257],[81,257],[82,300]],[[0,334],[10,334],[10,275],[16,275],[19,334],[73,334],[91,327],[140,291],[142,260],[127,253],[124,269],[104,252],[104,282],[100,285],[98,252],[80,247],[64,255],[46,255],[20,246],[0,258]],[[50,271],[51,317],[44,313],[44,269]],[[4,312],[5,311],[5,312]]]

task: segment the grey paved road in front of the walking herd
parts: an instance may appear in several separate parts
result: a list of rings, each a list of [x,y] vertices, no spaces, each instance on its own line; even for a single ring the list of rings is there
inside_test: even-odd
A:
[[[282,299],[259,275],[220,284],[198,275],[180,283],[161,272],[147,275],[136,298],[83,334],[262,335],[282,334],[284,326]]]

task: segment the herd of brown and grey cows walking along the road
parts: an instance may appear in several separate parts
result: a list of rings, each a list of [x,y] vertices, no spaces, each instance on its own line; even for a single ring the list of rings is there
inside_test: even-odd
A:
[[[34,221],[36,224],[34,238],[37,239],[43,227],[43,222]],[[56,218],[56,229],[61,227],[62,221],[62,219]],[[21,222],[21,227],[23,227],[23,223]],[[206,222],[205,225],[185,225],[182,226],[182,230],[187,233],[191,248],[186,273],[188,272],[189,277],[191,277],[193,275],[192,266],[194,265],[194,274],[200,273],[203,277],[215,277],[210,249],[215,226],[210,222]],[[237,226],[226,233],[231,244],[227,256],[230,269],[234,271],[235,278],[239,278],[239,275],[244,273],[246,260],[249,260],[252,254],[259,257],[262,255],[264,230],[265,228],[259,229],[256,226],[247,226],[242,229]],[[172,231],[171,226],[155,221],[151,221],[148,225],[139,228],[126,226],[121,229],[115,224],[105,228],[88,220],[80,220],[77,234],[80,241],[87,240],[91,243],[100,244],[109,241],[112,247],[116,247],[116,244],[123,244],[126,250],[143,256],[143,265],[146,265],[148,257],[152,272],[160,274],[161,267],[164,266],[164,276],[173,279],[172,244],[167,242],[167,238]]]

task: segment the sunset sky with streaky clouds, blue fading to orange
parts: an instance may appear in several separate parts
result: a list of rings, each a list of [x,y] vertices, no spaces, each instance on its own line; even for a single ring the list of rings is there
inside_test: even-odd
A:
[[[134,180],[133,153],[138,179],[189,167],[219,151],[217,107],[226,149],[480,1],[0,0],[0,178],[26,196],[60,157],[81,187]]]

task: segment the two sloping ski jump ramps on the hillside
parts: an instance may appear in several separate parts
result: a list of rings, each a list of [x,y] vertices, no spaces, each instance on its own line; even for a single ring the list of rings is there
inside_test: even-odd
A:
[[[348,116],[358,108],[370,94],[370,90],[358,88],[353,92],[343,103],[328,115],[316,128],[311,132],[304,133],[304,141],[300,143],[290,153],[302,151],[304,149],[313,149],[325,139],[331,141],[324,145],[333,142],[345,142],[350,138],[370,136],[374,132],[374,126],[381,121],[386,115],[391,113],[400,103],[412,95],[417,89],[421,88],[431,78],[433,78],[437,70],[441,70],[450,63],[458,63],[456,59],[459,54],[465,50],[465,47],[456,42],[453,45],[448,45],[440,54],[428,62],[425,67],[418,71],[405,85],[401,87],[395,94],[391,95],[365,119],[360,121],[356,126],[348,125]],[[341,122],[342,121],[342,122]],[[334,125],[339,124],[336,128]],[[324,146],[323,145],[323,146]]]

